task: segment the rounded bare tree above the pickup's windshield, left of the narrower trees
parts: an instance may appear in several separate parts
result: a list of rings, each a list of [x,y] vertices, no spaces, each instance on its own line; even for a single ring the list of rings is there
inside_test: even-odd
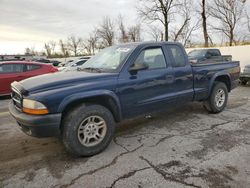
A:
[[[109,17],[104,17],[97,29],[97,36],[102,40],[102,45],[112,46],[114,43],[114,23]]]

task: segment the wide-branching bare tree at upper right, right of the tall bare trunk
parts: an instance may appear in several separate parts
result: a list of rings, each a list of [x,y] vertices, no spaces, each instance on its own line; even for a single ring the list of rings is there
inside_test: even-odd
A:
[[[213,0],[209,5],[210,15],[220,22],[213,28],[227,36],[230,46],[235,42],[235,28],[242,18],[244,5],[244,0]]]

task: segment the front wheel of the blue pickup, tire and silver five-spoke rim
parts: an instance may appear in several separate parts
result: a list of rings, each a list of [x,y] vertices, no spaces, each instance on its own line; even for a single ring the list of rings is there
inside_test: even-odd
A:
[[[103,151],[115,132],[112,113],[100,105],[81,105],[63,121],[63,143],[77,156],[92,156]]]

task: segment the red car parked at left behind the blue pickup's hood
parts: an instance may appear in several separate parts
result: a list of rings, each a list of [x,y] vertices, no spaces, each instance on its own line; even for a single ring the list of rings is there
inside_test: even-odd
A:
[[[52,65],[37,62],[0,62],[0,96],[9,95],[11,93],[10,84],[14,81],[20,81],[33,76],[57,71],[57,68]]]

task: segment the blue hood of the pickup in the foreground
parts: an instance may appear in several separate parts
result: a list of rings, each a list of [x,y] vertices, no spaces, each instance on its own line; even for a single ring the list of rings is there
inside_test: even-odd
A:
[[[57,72],[28,78],[20,84],[28,92],[39,92],[70,87],[83,82],[114,79],[117,76],[118,73]]]

